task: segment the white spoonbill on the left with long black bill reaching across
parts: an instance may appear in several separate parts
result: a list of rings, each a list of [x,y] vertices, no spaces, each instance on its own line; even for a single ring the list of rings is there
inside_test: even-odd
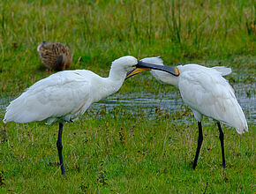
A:
[[[133,56],[115,60],[109,71],[109,78],[102,78],[92,71],[60,71],[43,78],[26,89],[6,108],[4,123],[29,123],[46,121],[59,123],[56,141],[61,171],[64,175],[62,155],[63,123],[73,122],[95,101],[116,93],[123,85],[128,71],[157,69],[176,73],[176,67],[167,67],[138,61]]]

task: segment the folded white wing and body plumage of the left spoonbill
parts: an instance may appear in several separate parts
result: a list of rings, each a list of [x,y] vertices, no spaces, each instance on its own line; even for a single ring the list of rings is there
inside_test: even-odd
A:
[[[85,111],[90,101],[91,82],[85,74],[91,71],[60,71],[29,87],[6,108],[4,123],[28,123],[49,118],[49,123],[64,116],[75,119],[75,111]],[[69,115],[71,114],[71,115]],[[75,116],[71,117],[73,114]]]

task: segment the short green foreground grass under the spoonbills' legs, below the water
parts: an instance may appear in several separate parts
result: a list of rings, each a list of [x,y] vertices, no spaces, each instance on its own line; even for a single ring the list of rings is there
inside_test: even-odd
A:
[[[223,127],[228,166],[223,169],[217,127],[204,125],[199,166],[192,170],[196,123],[173,121],[175,115],[148,120],[143,111],[125,114],[118,105],[112,114],[119,118],[91,115],[64,125],[65,177],[57,166],[57,124],[3,126],[0,189],[18,193],[255,190],[255,126],[242,136]]]

